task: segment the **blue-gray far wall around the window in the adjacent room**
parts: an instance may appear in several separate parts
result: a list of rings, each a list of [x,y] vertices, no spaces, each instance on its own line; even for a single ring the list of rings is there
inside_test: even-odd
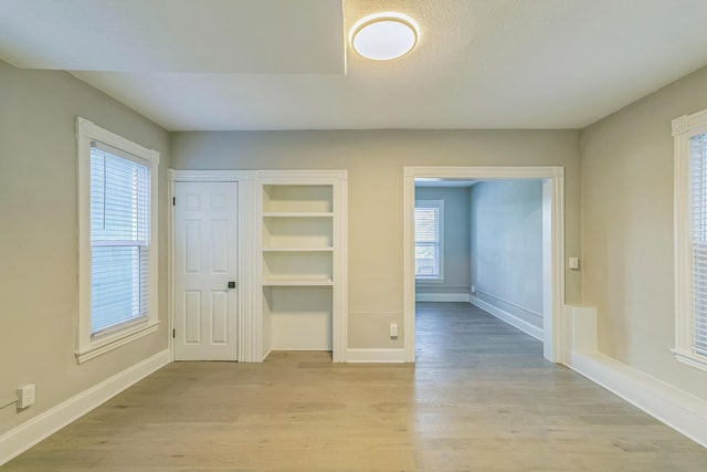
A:
[[[468,188],[418,187],[415,200],[444,200],[444,281],[418,282],[416,293],[460,293],[469,287],[469,207]]]

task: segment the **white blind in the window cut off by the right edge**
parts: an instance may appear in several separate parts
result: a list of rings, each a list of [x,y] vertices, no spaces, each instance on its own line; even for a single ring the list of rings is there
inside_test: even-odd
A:
[[[707,134],[693,136],[689,150],[692,220],[693,348],[707,356]]]

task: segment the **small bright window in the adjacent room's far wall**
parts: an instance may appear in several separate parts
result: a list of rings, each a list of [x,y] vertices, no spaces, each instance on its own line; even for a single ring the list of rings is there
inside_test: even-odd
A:
[[[415,201],[415,279],[442,282],[444,200]]]

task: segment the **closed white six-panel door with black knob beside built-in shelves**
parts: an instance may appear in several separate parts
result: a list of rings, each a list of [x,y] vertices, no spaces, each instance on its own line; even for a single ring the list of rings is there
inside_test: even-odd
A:
[[[236,360],[238,182],[175,183],[175,360]]]

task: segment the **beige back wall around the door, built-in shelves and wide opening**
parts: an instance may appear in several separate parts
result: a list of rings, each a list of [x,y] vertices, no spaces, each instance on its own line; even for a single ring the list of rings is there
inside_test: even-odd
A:
[[[579,247],[574,130],[331,130],[172,133],[176,169],[347,169],[350,348],[400,348],[403,326],[403,167],[564,166],[567,250]],[[579,274],[566,272],[579,302]]]

